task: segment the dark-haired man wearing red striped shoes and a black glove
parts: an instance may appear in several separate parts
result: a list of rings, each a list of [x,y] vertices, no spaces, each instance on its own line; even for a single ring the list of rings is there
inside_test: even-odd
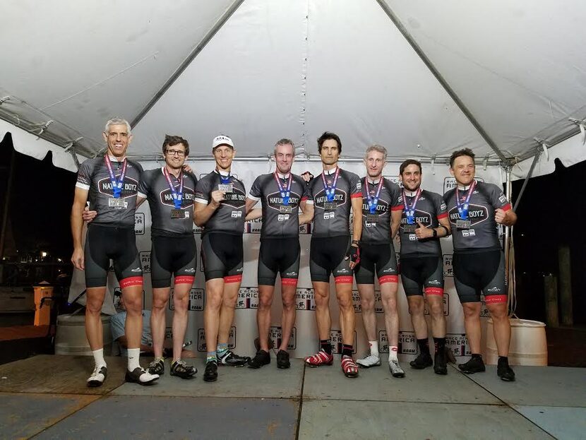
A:
[[[362,193],[359,177],[337,166],[342,142],[326,131],[318,138],[323,172],[309,182],[308,205],[313,205],[313,234],[309,269],[316,299],[316,321],[320,350],[305,358],[309,367],[333,363],[330,318],[330,274],[335,277],[337,303],[342,331],[342,371],[347,377],[358,376],[352,359],[354,351],[354,305],[352,270],[360,261],[362,232]],[[354,213],[352,239],[349,235],[350,208]]]

